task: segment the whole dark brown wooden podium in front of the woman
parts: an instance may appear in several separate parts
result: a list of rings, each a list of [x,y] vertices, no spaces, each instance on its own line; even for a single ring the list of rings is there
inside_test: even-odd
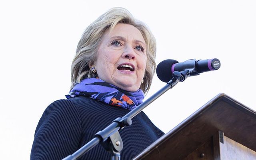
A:
[[[134,160],[256,160],[256,112],[218,94]]]

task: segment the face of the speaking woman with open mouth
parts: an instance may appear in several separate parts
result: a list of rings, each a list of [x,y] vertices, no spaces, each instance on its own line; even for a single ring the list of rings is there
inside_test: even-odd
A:
[[[117,24],[104,34],[94,65],[98,78],[134,92],[140,88],[146,61],[146,43],[140,31],[129,24]]]

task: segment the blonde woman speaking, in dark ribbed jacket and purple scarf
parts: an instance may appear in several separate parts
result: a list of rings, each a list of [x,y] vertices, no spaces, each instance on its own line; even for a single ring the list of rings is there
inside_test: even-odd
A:
[[[117,117],[142,103],[155,72],[155,38],[124,8],[112,8],[86,28],[72,62],[66,100],[44,111],[35,132],[32,160],[73,154]],[[130,160],[164,133],[143,112],[120,130],[122,160]],[[80,160],[110,159],[97,145]]]

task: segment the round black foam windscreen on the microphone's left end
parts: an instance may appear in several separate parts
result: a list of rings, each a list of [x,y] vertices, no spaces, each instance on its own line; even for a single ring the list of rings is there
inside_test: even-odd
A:
[[[169,82],[172,77],[172,65],[178,63],[176,60],[164,60],[156,67],[156,74],[163,82]]]

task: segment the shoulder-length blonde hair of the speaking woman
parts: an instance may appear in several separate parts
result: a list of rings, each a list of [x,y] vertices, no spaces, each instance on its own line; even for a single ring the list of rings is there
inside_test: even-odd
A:
[[[156,70],[156,40],[146,24],[136,20],[128,10],[120,7],[111,8],[102,14],[82,34],[71,65],[71,89],[77,82],[97,76],[90,71],[89,64],[96,60],[96,53],[105,32],[109,29],[112,30],[118,23],[130,24],[136,27],[146,42],[147,63],[144,82],[141,84],[140,89],[145,94],[148,92]]]

